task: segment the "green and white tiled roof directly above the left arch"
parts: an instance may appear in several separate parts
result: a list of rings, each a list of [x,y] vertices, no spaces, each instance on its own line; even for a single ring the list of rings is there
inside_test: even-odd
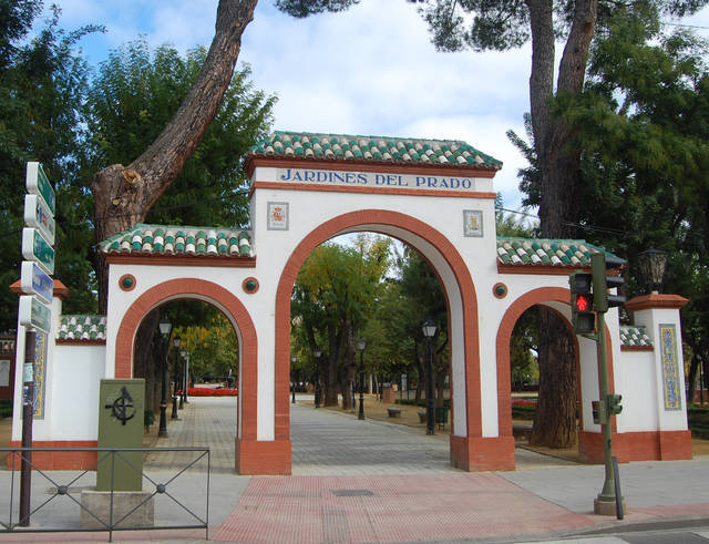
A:
[[[113,254],[251,256],[247,230],[142,223],[102,242],[101,249]]]

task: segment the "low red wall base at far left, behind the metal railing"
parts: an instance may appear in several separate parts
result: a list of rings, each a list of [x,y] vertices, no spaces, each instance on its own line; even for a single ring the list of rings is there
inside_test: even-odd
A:
[[[11,440],[9,448],[22,448],[22,442]],[[32,448],[97,448],[95,440],[35,440]],[[8,455],[7,468],[12,469],[12,454]],[[95,451],[35,451],[32,452],[32,468],[44,471],[96,470]],[[14,470],[20,470],[20,454],[14,455]]]

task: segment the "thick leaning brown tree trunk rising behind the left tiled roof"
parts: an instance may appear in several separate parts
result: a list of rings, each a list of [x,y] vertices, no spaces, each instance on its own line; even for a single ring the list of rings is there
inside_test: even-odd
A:
[[[219,0],[215,34],[202,71],[174,117],[145,152],[130,165],[113,164],[91,182],[96,243],[135,226],[202,141],[229,86],[244,29],[257,0]],[[99,306],[106,311],[107,265],[96,252]]]

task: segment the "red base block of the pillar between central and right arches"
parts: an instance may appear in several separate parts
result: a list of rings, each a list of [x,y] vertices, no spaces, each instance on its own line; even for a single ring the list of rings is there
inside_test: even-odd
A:
[[[456,437],[451,434],[451,464],[467,472],[513,471],[514,437]]]

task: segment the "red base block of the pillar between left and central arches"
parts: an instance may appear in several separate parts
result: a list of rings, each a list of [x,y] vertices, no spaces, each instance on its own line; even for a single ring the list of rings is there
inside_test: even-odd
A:
[[[290,475],[290,440],[242,440],[234,443],[236,472]]]

